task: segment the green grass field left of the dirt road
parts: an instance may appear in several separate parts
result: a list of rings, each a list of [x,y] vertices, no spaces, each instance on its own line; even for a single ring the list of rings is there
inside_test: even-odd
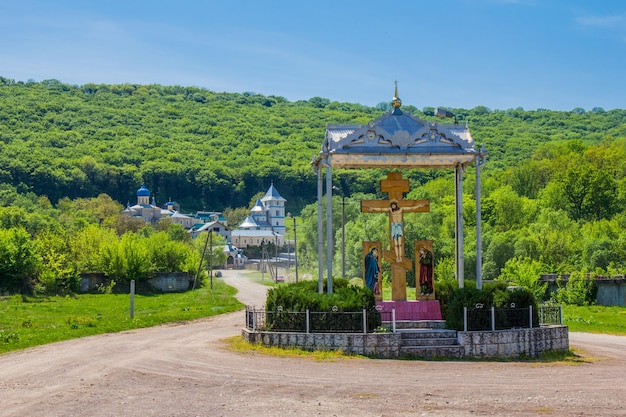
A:
[[[235,293],[214,280],[212,290],[207,285],[185,293],[135,295],[132,319],[128,294],[0,297],[0,353],[236,311],[243,304]]]

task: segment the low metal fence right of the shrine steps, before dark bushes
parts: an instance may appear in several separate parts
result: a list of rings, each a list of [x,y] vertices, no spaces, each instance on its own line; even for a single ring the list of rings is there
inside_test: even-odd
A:
[[[545,325],[563,324],[562,306],[542,305],[533,310],[533,306],[516,308],[487,307],[476,304],[463,307],[463,331],[507,330],[533,328]]]

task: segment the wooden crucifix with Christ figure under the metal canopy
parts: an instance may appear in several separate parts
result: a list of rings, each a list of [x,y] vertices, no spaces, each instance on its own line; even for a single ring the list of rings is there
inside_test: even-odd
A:
[[[389,213],[391,250],[383,251],[383,259],[391,263],[391,299],[406,301],[406,271],[413,270],[413,263],[404,257],[404,213],[430,211],[428,200],[404,200],[409,191],[409,180],[400,172],[390,172],[380,181],[380,191],[387,193],[388,200],[362,200],[363,213]]]

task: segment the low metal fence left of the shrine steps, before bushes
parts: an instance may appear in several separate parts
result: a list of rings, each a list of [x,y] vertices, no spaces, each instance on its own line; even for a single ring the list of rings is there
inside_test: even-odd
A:
[[[246,327],[254,331],[368,333],[381,324],[378,311],[276,311],[246,307]]]

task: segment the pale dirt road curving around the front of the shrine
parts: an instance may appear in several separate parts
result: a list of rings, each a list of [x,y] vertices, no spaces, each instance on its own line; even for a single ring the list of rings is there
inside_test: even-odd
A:
[[[266,288],[224,280],[246,304]],[[0,416],[626,416],[626,338],[571,334],[579,365],[229,351],[242,312],[0,355]]]

